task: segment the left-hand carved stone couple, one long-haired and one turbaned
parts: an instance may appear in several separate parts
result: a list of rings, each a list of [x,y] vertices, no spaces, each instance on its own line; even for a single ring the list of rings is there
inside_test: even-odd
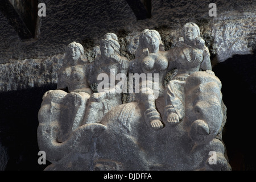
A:
[[[101,54],[93,63],[84,59],[81,44],[72,42],[65,48],[64,66],[59,71],[57,90],[49,90],[44,94],[39,111],[40,124],[55,120],[58,123],[58,129],[47,127],[52,130],[49,133],[57,131],[53,137],[57,142],[64,142],[85,123],[99,123],[112,107],[122,104],[122,95],[115,92],[116,83],[108,85],[99,93],[93,93],[90,88],[90,85],[100,82],[97,80],[100,73],[106,73],[110,78],[114,74],[110,69],[127,74],[129,61],[119,56],[119,48],[117,36],[112,33],[105,34],[101,40]],[[53,108],[53,111],[48,107]],[[49,111],[52,113],[49,114]]]

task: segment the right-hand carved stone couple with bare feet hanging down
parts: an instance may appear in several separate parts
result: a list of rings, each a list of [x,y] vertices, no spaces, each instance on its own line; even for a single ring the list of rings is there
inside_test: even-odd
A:
[[[163,127],[162,117],[156,109],[155,100],[150,99],[158,92],[164,96],[166,107],[164,119],[168,123],[179,123],[184,117],[184,84],[186,78],[193,72],[211,70],[208,48],[200,37],[199,27],[195,23],[187,23],[183,27],[183,38],[177,46],[164,51],[159,32],[144,30],[139,36],[139,47],[135,59],[131,61],[131,73],[158,73],[159,80],[147,79],[147,84],[158,84],[159,90],[152,86],[143,88],[136,94],[137,101],[145,106],[144,117],[152,128],[159,130]],[[183,40],[182,40],[183,39]],[[168,71],[177,69],[176,76],[164,88],[164,77]],[[211,72],[214,74],[213,72]]]

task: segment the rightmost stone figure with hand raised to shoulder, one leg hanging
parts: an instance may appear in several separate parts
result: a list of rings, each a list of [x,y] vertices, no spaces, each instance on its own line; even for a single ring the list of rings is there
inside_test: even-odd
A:
[[[178,123],[184,117],[184,84],[193,72],[211,70],[210,54],[204,40],[200,37],[200,29],[195,23],[186,23],[182,29],[184,42],[166,51],[170,61],[168,69],[177,68],[177,74],[168,83],[164,92],[166,102],[165,117],[169,123]],[[212,72],[212,74],[214,74]]]

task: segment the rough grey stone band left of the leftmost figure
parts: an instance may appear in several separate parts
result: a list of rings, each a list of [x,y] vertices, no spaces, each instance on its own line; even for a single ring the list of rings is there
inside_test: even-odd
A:
[[[1,64],[0,90],[6,92],[57,84],[57,71],[62,67],[63,59],[63,55],[56,55]]]

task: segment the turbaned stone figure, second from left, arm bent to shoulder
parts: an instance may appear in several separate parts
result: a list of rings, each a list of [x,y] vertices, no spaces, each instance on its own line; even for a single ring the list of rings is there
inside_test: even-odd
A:
[[[129,60],[119,55],[119,48],[117,35],[113,33],[104,35],[100,44],[101,55],[94,60],[88,80],[90,85],[98,85],[101,90],[97,90],[98,93],[93,93],[90,97],[84,123],[100,123],[112,107],[122,104],[123,88],[117,86],[118,80],[115,76],[118,73],[127,75]],[[104,84],[101,84],[102,77],[98,80],[99,75],[105,78]]]

